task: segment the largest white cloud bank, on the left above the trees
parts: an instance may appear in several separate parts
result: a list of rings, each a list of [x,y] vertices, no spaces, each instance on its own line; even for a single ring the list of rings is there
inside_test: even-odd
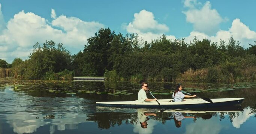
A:
[[[105,26],[99,22],[85,22],[76,17],[64,15],[56,16],[55,10],[51,10],[49,22],[45,18],[34,13],[21,11],[13,16],[6,25],[3,25],[3,15],[0,12],[0,59],[11,63],[16,57],[23,60],[28,58],[32,46],[45,40],[53,40],[63,43],[68,50],[76,53],[84,48],[87,38],[94,35]]]

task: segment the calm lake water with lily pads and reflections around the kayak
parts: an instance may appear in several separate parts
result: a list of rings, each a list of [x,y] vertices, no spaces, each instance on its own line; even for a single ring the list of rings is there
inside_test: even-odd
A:
[[[139,83],[0,79],[0,134],[255,133],[256,83],[182,84],[187,92],[198,96],[244,97],[245,100],[241,106],[213,109],[215,112],[106,108],[95,104],[135,100]],[[156,98],[168,99],[175,84],[151,82],[148,85]],[[140,121],[143,120],[147,120],[143,126],[147,128],[142,128]]]

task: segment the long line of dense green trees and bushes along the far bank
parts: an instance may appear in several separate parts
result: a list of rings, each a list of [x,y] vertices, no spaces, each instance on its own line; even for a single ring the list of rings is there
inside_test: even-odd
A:
[[[60,76],[105,76],[108,80],[192,80],[253,81],[256,77],[256,41],[244,48],[230,36],[229,41],[208,39],[190,43],[167,39],[165,35],[143,41],[136,34],[115,33],[101,28],[87,39],[84,50],[72,55],[62,43],[38,42],[23,61],[0,67],[12,68],[15,77],[58,79]]]

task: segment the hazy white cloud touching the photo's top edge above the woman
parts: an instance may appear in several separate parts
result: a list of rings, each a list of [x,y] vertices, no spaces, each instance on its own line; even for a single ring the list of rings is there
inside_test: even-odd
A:
[[[211,3],[207,1],[204,6],[199,9],[196,0],[186,0],[185,7],[189,7],[187,11],[183,11],[186,15],[186,21],[193,24],[194,31],[203,32],[208,35],[214,35],[219,31],[219,24],[224,21],[217,10],[211,9]]]

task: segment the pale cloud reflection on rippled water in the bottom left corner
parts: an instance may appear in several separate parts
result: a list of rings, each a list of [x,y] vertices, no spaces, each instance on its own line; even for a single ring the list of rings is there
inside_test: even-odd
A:
[[[86,121],[87,115],[85,114],[69,114],[64,115],[62,118],[44,119],[45,115],[40,115],[39,119],[36,119],[38,115],[22,112],[17,114],[11,114],[6,116],[7,123],[13,128],[13,132],[22,133],[34,133],[37,128],[45,125],[50,125],[49,133],[53,134],[56,130],[74,130],[78,128],[79,123],[91,122]]]

